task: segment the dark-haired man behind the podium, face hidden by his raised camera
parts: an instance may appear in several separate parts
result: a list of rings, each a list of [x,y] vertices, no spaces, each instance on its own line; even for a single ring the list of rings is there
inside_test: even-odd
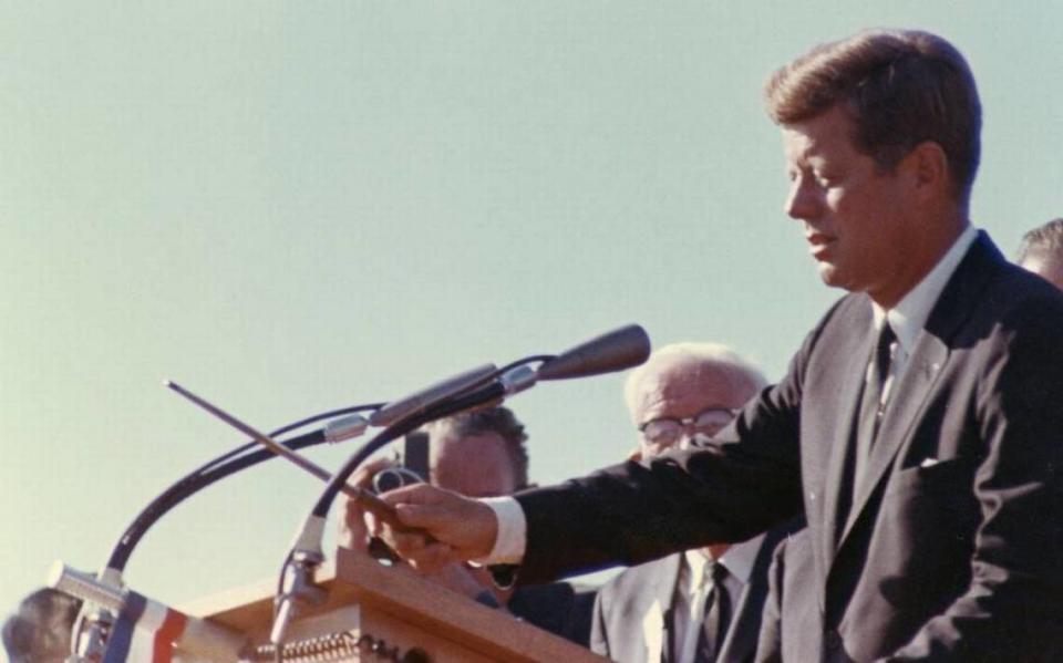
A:
[[[424,426],[429,436],[427,483],[468,497],[500,497],[528,488],[527,435],[524,425],[506,407],[458,414]],[[374,474],[390,465],[378,462],[355,473],[352,481],[368,485]],[[365,547],[362,514],[347,503],[340,545]],[[587,646],[590,635],[592,591],[577,591],[570,583],[500,588],[486,569],[463,563],[446,564],[426,576],[431,580],[492,608],[514,615]]]

